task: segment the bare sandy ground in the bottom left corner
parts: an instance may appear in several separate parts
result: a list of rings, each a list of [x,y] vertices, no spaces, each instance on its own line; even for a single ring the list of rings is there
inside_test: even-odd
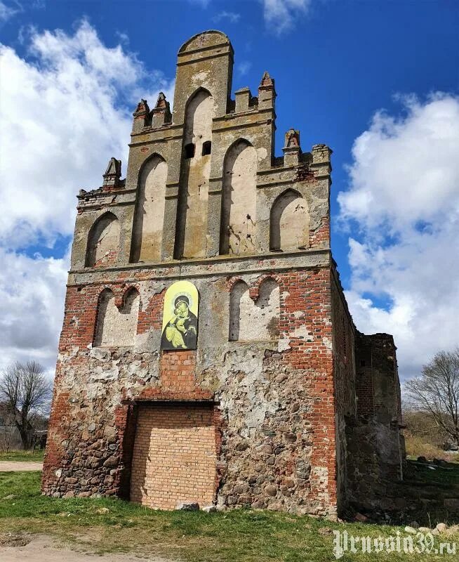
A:
[[[11,541],[14,543],[14,541]],[[22,541],[22,542],[25,542]],[[25,545],[21,541],[16,546],[0,546],[1,562],[173,562],[165,558],[150,557],[145,554],[133,556],[128,554],[84,554],[69,550],[53,542],[51,537],[34,537]]]

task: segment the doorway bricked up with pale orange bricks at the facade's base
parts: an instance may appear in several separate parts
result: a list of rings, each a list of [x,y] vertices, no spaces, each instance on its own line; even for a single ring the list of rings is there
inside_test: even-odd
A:
[[[216,443],[213,404],[140,405],[132,459],[131,501],[153,509],[213,502]]]

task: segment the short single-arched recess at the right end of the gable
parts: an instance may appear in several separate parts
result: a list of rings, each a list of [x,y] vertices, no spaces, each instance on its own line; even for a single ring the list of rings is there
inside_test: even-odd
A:
[[[306,200],[298,191],[284,191],[271,209],[270,249],[286,251],[308,247],[309,225]]]

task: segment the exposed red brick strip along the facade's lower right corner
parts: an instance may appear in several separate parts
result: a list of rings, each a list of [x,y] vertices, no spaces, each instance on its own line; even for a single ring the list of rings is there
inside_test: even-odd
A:
[[[310,495],[324,503],[336,503],[335,400],[331,353],[331,275],[330,270],[282,273],[276,276],[281,294],[281,334],[288,334],[291,351],[284,361],[304,373],[302,382],[313,400],[307,417],[312,426]],[[300,317],[298,311],[303,311]],[[308,327],[312,341],[291,334]],[[306,420],[305,420],[306,421]],[[324,489],[324,480],[326,487]]]

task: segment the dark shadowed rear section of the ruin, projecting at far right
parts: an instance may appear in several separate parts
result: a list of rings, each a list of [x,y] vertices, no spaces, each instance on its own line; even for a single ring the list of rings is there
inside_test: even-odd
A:
[[[346,428],[350,501],[393,509],[393,485],[403,478],[400,384],[394,339],[356,335],[357,417]]]

